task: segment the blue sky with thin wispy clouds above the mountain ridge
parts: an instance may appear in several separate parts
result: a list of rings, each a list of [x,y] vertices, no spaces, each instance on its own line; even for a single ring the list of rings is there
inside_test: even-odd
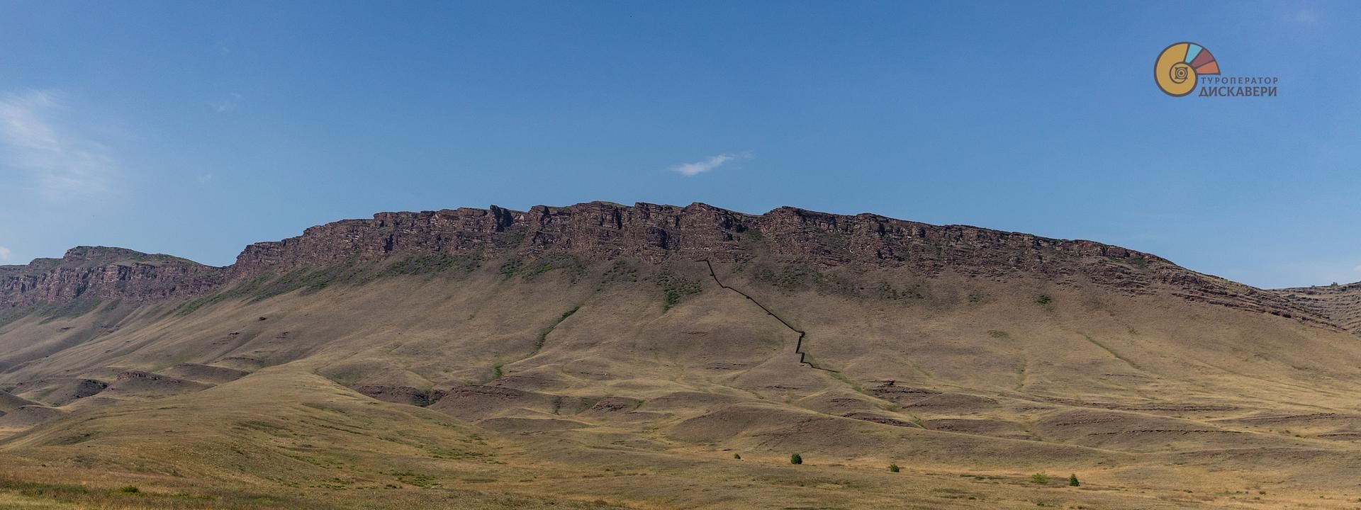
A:
[[[0,264],[378,211],[875,212],[1361,280],[1361,3],[5,1]],[[1275,98],[1172,98],[1210,49]]]

